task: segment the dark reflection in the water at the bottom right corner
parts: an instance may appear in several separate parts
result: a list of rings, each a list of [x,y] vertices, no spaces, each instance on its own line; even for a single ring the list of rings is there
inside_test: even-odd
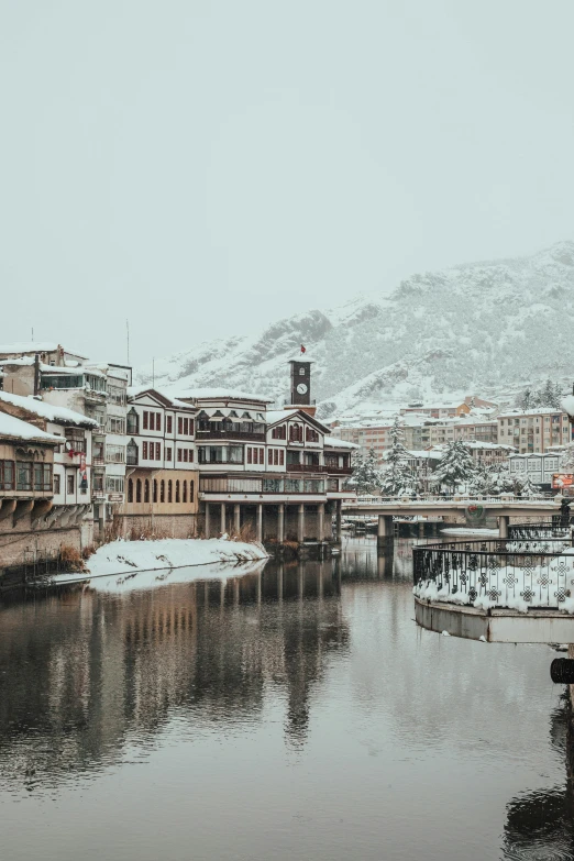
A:
[[[566,699],[552,713],[550,735],[552,747],[566,763],[565,783],[521,794],[508,804],[504,858],[572,858],[574,731]]]

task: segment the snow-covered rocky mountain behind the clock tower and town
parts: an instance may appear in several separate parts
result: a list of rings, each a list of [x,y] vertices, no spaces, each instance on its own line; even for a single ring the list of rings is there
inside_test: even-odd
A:
[[[200,343],[156,361],[155,383],[224,385],[280,405],[287,361],[302,343],[322,418],[445,393],[494,395],[574,378],[573,323],[574,242],[561,242],[531,257],[413,275],[390,295]],[[139,378],[151,382],[152,367]]]

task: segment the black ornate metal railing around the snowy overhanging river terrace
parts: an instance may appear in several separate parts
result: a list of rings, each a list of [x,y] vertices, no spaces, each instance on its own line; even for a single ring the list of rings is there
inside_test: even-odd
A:
[[[420,599],[482,609],[563,609],[574,595],[574,556],[567,538],[498,539],[412,549]]]

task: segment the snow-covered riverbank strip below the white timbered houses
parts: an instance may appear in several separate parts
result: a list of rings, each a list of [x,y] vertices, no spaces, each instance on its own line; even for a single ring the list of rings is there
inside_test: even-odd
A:
[[[158,541],[113,541],[98,548],[86,571],[59,574],[54,583],[90,581],[96,588],[122,586],[133,578],[133,587],[211,579],[230,574],[251,573],[268,559],[263,544],[212,539],[161,539]],[[113,589],[118,590],[118,589]]]

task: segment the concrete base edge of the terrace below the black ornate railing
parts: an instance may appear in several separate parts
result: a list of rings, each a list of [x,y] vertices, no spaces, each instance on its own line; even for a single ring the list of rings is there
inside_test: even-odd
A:
[[[429,631],[497,643],[574,642],[574,616],[558,609],[482,609],[415,597],[417,625]]]

